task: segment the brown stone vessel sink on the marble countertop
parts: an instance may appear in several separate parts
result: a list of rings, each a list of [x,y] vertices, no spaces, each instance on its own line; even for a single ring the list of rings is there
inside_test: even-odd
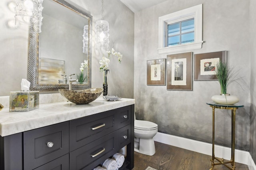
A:
[[[88,104],[96,100],[103,92],[103,88],[89,88],[86,90],[59,89],[60,94],[75,104]]]

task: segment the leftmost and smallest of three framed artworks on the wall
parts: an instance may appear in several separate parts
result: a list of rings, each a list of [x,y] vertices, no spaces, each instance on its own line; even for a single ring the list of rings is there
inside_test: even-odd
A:
[[[166,59],[147,61],[147,85],[165,85]]]

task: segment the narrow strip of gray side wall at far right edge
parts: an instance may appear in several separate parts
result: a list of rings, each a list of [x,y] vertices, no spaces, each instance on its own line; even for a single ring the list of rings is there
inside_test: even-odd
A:
[[[251,107],[250,107],[250,154],[256,162],[256,0],[250,0],[250,55],[251,55]]]

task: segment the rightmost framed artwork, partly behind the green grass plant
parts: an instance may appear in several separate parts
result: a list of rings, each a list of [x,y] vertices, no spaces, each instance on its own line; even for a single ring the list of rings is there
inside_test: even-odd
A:
[[[226,51],[194,55],[194,80],[218,80],[215,66],[218,61],[226,62]]]

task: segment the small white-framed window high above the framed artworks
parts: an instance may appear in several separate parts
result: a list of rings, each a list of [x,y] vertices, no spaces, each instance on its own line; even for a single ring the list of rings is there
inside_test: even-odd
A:
[[[159,54],[202,48],[202,4],[159,17]]]

